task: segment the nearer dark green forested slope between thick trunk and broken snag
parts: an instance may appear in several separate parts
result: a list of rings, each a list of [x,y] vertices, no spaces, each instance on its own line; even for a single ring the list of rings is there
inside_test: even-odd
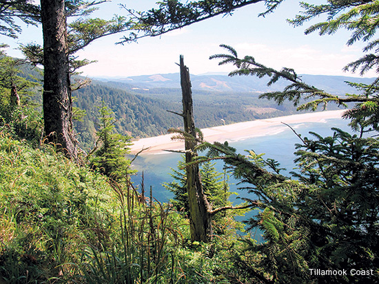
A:
[[[102,102],[114,111],[117,120],[114,124],[116,131],[132,135],[134,138],[160,135],[180,123],[178,118],[168,115],[166,111],[172,109],[175,104],[165,100],[130,94],[96,83],[75,91],[73,95],[77,98],[74,105],[87,113],[83,121],[74,123],[76,131],[80,133],[79,141],[82,144],[94,140]]]

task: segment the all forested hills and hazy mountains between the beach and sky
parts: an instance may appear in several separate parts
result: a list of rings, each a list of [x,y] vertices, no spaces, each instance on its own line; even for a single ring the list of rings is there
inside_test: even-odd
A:
[[[369,83],[369,78],[344,76],[302,75],[305,82],[318,86],[331,94],[354,93],[345,81]],[[267,80],[252,76],[228,77],[223,75],[192,75],[196,127],[214,127],[295,113],[285,102],[259,100],[265,91],[283,89],[284,82],[267,87]],[[254,91],[253,91],[254,90]],[[88,148],[94,142],[98,108],[102,101],[110,107],[117,122],[116,131],[133,138],[167,133],[170,127],[181,127],[181,119],[173,113],[181,112],[179,74],[156,74],[130,78],[102,78],[93,80],[83,89],[74,92],[76,107],[85,109],[87,116],[75,122],[81,146]],[[330,105],[329,109],[336,109]]]

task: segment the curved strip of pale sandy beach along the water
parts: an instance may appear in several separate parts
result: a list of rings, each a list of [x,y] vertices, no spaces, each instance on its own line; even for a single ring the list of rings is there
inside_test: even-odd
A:
[[[203,131],[204,138],[208,142],[230,142],[263,135],[273,135],[283,131],[283,129],[287,127],[283,123],[291,125],[306,122],[325,122],[327,119],[340,118],[343,112],[344,110],[302,113],[293,116],[280,116],[278,118],[239,122],[223,125],[221,127],[201,129],[201,131]],[[131,153],[136,154],[142,149],[147,148],[147,150],[143,151],[144,155],[161,153],[165,150],[183,150],[184,142],[171,140],[172,135],[174,134],[136,140],[133,142],[134,144],[130,146]]]

